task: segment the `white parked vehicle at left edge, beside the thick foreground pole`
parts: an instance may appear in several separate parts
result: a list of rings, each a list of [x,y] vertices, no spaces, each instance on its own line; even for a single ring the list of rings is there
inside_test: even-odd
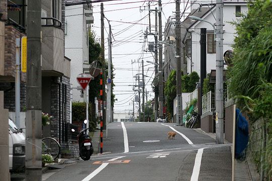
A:
[[[9,167],[16,171],[25,167],[26,136],[22,129],[9,118]]]

